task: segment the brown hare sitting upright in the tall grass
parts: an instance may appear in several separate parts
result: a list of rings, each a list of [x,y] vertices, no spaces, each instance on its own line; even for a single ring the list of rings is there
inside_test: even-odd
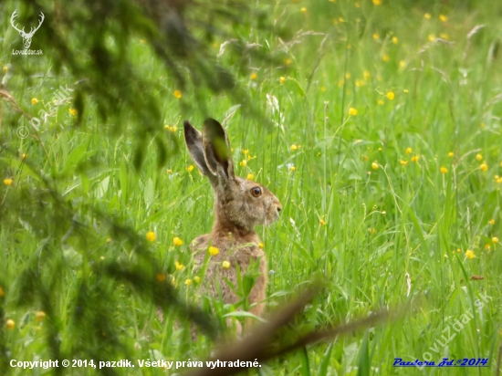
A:
[[[217,298],[216,286],[219,284],[224,303],[237,303],[239,298],[225,278],[237,287],[236,266],[242,276],[250,263],[259,262],[260,275],[249,293],[248,303],[253,305],[249,311],[260,317],[267,289],[267,260],[258,246],[260,239],[253,227],[275,222],[282,206],[263,185],[235,176],[228,137],[218,121],[205,120],[202,133],[186,120],[183,126],[184,139],[193,162],[209,179],[214,190],[213,230],[211,234],[197,236],[190,245],[196,271],[202,268],[209,246],[219,251],[209,258],[203,291]],[[215,251],[214,248],[212,250]],[[229,267],[225,261],[230,264]]]

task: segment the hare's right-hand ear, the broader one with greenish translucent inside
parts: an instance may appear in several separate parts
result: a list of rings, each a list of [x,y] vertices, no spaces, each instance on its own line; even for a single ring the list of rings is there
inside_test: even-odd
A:
[[[234,162],[228,137],[222,125],[211,118],[204,121],[203,149],[209,170],[225,180],[234,180]]]

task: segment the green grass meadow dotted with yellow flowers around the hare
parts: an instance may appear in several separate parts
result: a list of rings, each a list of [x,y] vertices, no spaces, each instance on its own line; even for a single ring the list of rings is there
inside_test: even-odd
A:
[[[37,116],[56,89],[75,89],[84,78],[65,69],[54,74],[51,47],[37,43],[37,35],[32,48],[44,49],[43,56],[12,55],[22,47],[8,22],[16,6],[2,5],[2,82],[22,110]],[[241,36],[278,62],[251,59],[243,72],[233,68],[224,38],[208,43],[269,121],[248,115],[225,93],[180,89],[148,41],[131,37],[124,54],[152,83],[141,90],[162,103],[163,119],[141,145],[139,170],[137,120],[122,119],[116,131],[89,96],[77,121],[68,91],[34,131],[2,94],[2,374],[103,372],[28,371],[10,367],[12,359],[202,360],[214,349],[209,337],[192,341],[180,310],[166,310],[161,323],[155,297],[119,277],[102,277],[112,264],[141,270],[148,257],[155,294],[173,287],[173,299],[194,304],[200,284],[211,283],[197,283],[188,245],[211,230],[213,193],[183,141],[183,120],[201,129],[208,116],[225,120],[236,174],[263,183],[283,204],[276,224],[257,228],[270,269],[267,312],[315,279],[326,287],[293,332],[414,304],[401,319],[309,346],[249,374],[496,373],[502,5],[299,0],[256,2],[252,9],[290,32],[279,39],[250,27]],[[78,49],[78,40],[71,43]],[[200,98],[205,107],[195,105]],[[27,137],[20,137],[22,126]],[[158,139],[172,151],[162,166]],[[488,298],[478,308],[482,297]],[[234,309],[214,302],[208,311],[224,322]],[[455,319],[465,319],[462,328]],[[424,360],[427,352],[434,361],[488,359],[487,367],[392,367],[394,358]],[[102,374],[184,371],[190,370],[136,366]]]

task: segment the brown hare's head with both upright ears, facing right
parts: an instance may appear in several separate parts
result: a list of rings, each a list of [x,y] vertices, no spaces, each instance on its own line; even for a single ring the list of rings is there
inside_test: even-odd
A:
[[[193,162],[214,189],[214,225],[233,232],[249,232],[255,225],[270,225],[282,207],[261,184],[235,176],[228,137],[213,119],[204,121],[202,133],[184,121],[184,140]]]

